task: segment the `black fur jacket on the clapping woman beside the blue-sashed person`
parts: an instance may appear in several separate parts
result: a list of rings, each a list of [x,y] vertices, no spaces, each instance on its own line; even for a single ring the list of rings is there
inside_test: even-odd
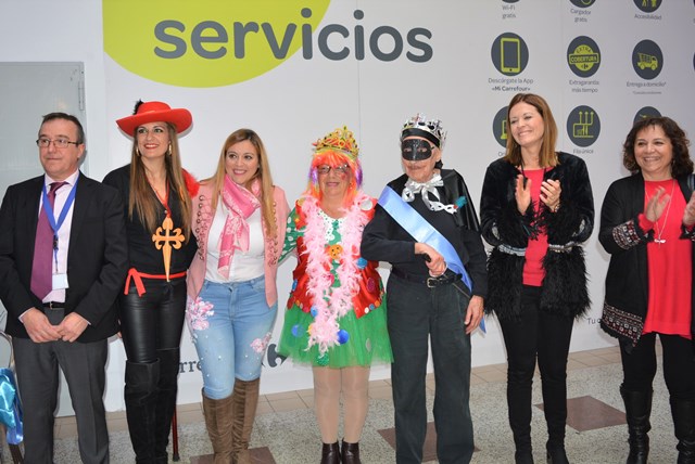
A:
[[[531,204],[522,215],[515,199],[519,170],[504,159],[485,172],[480,201],[483,239],[494,248],[488,257],[489,293],[485,312],[516,319],[521,312],[522,272],[529,239],[544,228],[548,249],[543,258],[545,279],[541,311],[578,318],[591,305],[586,266],[581,244],[594,227],[594,197],[584,160],[558,153],[559,164],[544,179],[560,181],[560,207],[556,212]]]

